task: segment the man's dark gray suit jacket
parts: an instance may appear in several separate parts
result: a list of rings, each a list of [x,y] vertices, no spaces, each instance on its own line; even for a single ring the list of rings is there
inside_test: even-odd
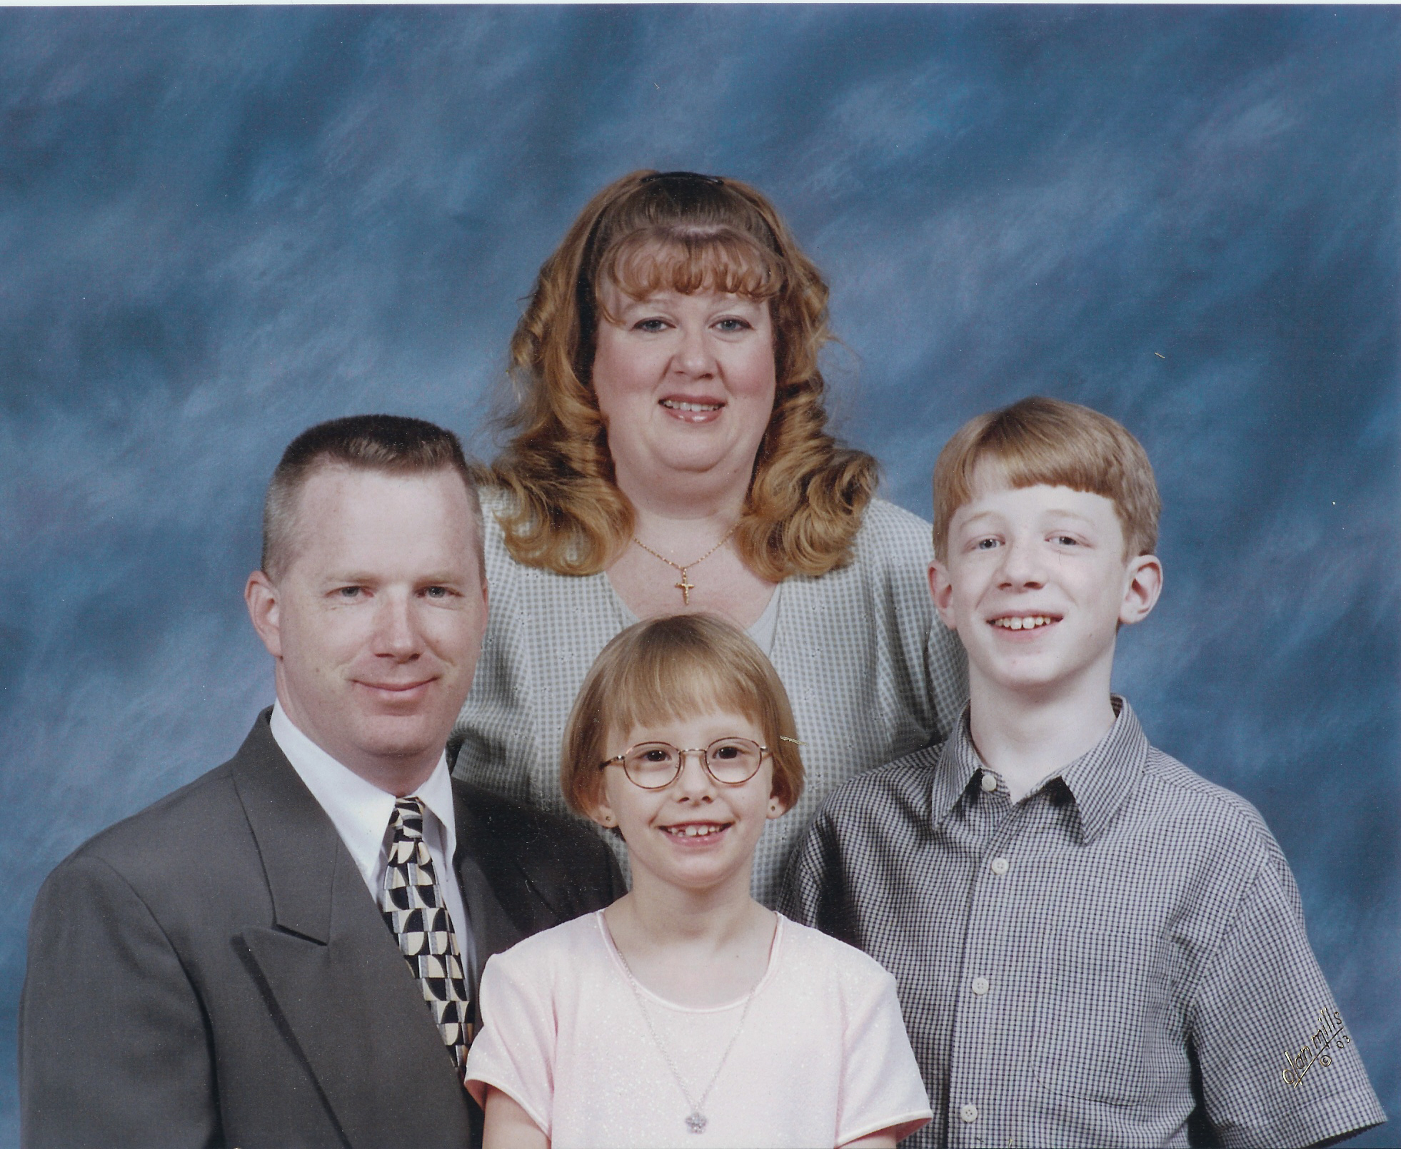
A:
[[[417,982],[268,714],[230,761],[98,834],[39,890],[20,1003],[25,1146],[478,1141]],[[461,782],[454,805],[479,963],[622,893],[583,827]]]

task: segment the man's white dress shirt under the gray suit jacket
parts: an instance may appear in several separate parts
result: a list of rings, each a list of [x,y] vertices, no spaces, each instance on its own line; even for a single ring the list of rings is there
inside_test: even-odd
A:
[[[272,708],[272,736],[282,753],[287,756],[297,777],[321,803],[331,824],[340,834],[340,841],[354,859],[370,890],[374,904],[380,904],[380,889],[384,884],[384,868],[388,865],[387,845],[389,816],[394,813],[395,798],[388,791],[367,782],[353,770],[338,763],[331,754],[307,738],[280,703]],[[457,852],[457,823],[453,817],[453,780],[447,768],[447,754],[439,759],[429,780],[409,798],[419,798],[425,805],[423,841],[433,859],[433,873],[437,877],[447,912],[453,918],[453,932],[457,935],[457,949],[462,967],[476,968],[476,953],[472,945],[472,931],[468,928],[467,907],[453,868]]]

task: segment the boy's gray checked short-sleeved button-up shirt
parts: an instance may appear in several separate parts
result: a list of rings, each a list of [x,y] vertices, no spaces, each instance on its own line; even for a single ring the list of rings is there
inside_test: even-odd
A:
[[[965,712],[838,789],[794,858],[783,911],[899,984],[934,1110],[905,1145],[1303,1146],[1384,1121],[1264,820],[1115,705],[1017,805]]]

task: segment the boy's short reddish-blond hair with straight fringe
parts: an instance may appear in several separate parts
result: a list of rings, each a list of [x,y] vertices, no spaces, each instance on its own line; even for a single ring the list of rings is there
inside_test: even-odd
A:
[[[948,557],[948,525],[972,498],[981,459],[999,463],[1013,488],[1070,487],[1114,502],[1124,557],[1152,554],[1161,501],[1143,445],[1107,414],[1033,395],[969,418],[934,463],[934,556]]]

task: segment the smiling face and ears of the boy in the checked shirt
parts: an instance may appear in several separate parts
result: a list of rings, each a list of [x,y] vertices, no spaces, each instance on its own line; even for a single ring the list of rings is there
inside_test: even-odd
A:
[[[996,460],[984,459],[929,584],[968,651],[974,682],[1051,698],[1100,683],[1108,693],[1118,626],[1153,609],[1163,568],[1150,554],[1125,558],[1111,500],[1045,484],[1014,488]]]

